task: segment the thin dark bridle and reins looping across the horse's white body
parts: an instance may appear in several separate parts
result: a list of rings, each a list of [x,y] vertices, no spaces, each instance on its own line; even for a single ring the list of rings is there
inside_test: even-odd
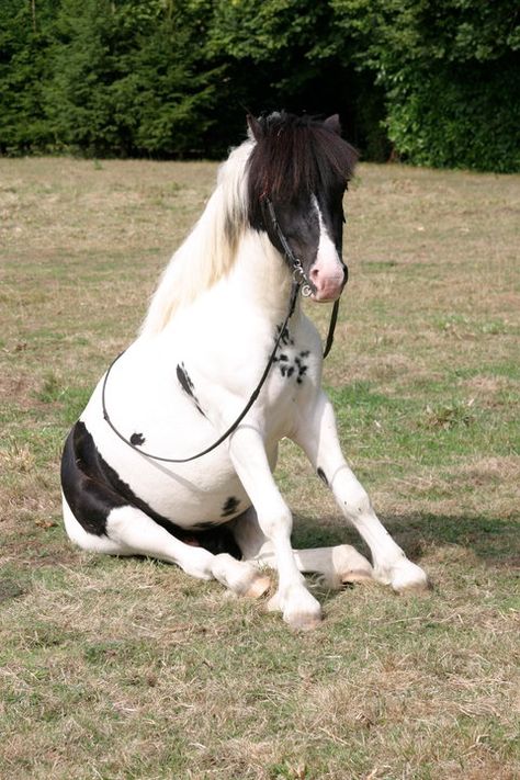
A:
[[[255,404],[257,400],[258,396],[260,395],[260,391],[262,389],[265,380],[268,378],[269,372],[271,370],[272,364],[274,363],[274,359],[276,357],[278,348],[280,347],[280,343],[282,342],[282,339],[284,335],[286,334],[286,328],[289,325],[289,320],[294,314],[294,309],[296,307],[296,301],[298,293],[302,292],[302,295],[305,297],[308,297],[309,295],[313,294],[315,286],[314,284],[307,279],[305,271],[302,265],[302,261],[299,258],[295,256],[293,250],[291,249],[291,246],[289,245],[287,239],[285,238],[282,228],[280,227],[280,224],[276,219],[276,214],[274,212],[274,206],[272,204],[272,201],[270,197],[264,196],[262,199],[262,202],[267,206],[267,211],[269,214],[269,217],[271,219],[271,227],[276,235],[278,240],[280,241],[280,245],[283,249],[283,253],[285,255],[285,259],[289,262],[289,264],[292,268],[293,271],[293,283],[291,286],[291,297],[289,302],[289,309],[287,314],[285,316],[285,319],[280,327],[279,335],[275,339],[274,347],[272,349],[271,354],[269,355],[269,360],[267,362],[265,369],[263,370],[263,373],[260,377],[260,381],[258,385],[255,387],[253,392],[251,393],[251,396],[249,400],[247,402],[246,406],[244,409],[240,411],[238,415],[237,419],[229,426],[229,428],[215,441],[213,444],[207,446],[205,450],[202,450],[202,452],[197,452],[195,455],[190,455],[189,457],[162,457],[160,455],[154,455],[150,452],[146,452],[143,450],[140,446],[137,446],[136,444],[133,444],[129,439],[126,439],[126,437],[123,436],[123,433],[114,426],[114,423],[111,420],[111,417],[109,415],[109,410],[106,408],[106,383],[109,381],[110,373],[112,369],[114,368],[115,363],[120,360],[120,358],[123,357],[126,350],[121,352],[115,360],[112,361],[112,363],[109,366],[109,370],[106,371],[106,374],[104,375],[103,380],[103,385],[101,387],[101,406],[103,409],[103,417],[110,428],[114,431],[114,433],[123,441],[125,444],[127,444],[132,450],[135,450],[136,452],[139,452],[142,455],[145,455],[145,457],[150,457],[154,461],[161,461],[162,463],[189,463],[190,461],[196,461],[199,457],[203,457],[203,455],[207,455],[210,452],[213,450],[216,450],[217,446],[219,446],[226,439],[228,439],[231,433],[236,431],[240,422],[244,420],[246,417],[247,412],[251,408],[251,406]],[[324,349],[324,358],[328,355],[330,352],[330,349],[332,347],[334,342],[334,332],[336,328],[336,323],[338,319],[338,309],[339,309],[339,298],[335,301],[334,307],[332,307],[332,313],[330,315],[330,323],[329,323],[329,329],[327,334],[327,341],[325,342],[325,349]]]

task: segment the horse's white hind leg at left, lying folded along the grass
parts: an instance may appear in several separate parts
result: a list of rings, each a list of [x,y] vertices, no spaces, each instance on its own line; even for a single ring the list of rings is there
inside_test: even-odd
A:
[[[257,597],[269,587],[269,580],[251,564],[237,561],[227,553],[213,555],[203,547],[185,544],[135,507],[111,509],[103,534],[86,531],[65,499],[64,518],[68,535],[83,550],[159,558],[177,564],[192,577],[217,579],[240,595]]]

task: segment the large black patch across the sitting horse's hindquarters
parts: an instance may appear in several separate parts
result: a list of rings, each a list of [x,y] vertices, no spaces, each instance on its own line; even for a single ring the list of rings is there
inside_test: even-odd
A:
[[[61,457],[61,486],[67,504],[88,533],[106,535],[106,520],[112,509],[135,507],[158,525],[186,544],[197,544],[215,555],[229,553],[240,558],[240,550],[230,530],[216,525],[201,533],[176,525],[156,512],[123,482],[101,456],[94,440],[81,420],[70,431]]]

